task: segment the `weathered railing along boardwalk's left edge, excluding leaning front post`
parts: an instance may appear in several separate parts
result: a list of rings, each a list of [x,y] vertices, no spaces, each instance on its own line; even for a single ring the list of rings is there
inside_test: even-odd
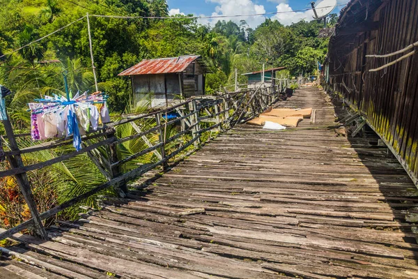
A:
[[[284,84],[290,84],[290,80],[286,80]],[[95,163],[96,166],[101,168],[102,174],[107,174],[107,172],[109,172],[109,176],[107,176],[109,181],[107,181],[107,183],[103,183],[102,185],[92,190],[89,190],[87,193],[74,197],[68,200],[67,202],[63,202],[63,204],[55,206],[53,209],[49,209],[48,211],[45,211],[43,213],[39,214],[37,211],[33,212],[33,216],[31,219],[11,229],[6,230],[6,232],[1,233],[0,240],[12,236],[16,232],[22,231],[22,229],[33,227],[33,225],[42,225],[40,223],[40,220],[50,218],[51,216],[54,216],[56,213],[59,213],[60,211],[63,211],[64,209],[67,209],[68,207],[77,204],[77,202],[81,202],[82,200],[91,197],[91,195],[98,193],[100,190],[104,190],[110,186],[123,186],[125,185],[126,181],[135,179],[138,176],[141,176],[142,174],[148,172],[150,169],[154,169],[155,167],[160,165],[163,165],[164,167],[164,165],[167,165],[171,158],[174,158],[176,155],[184,151],[187,147],[191,146],[192,144],[195,145],[196,149],[199,148],[201,135],[203,135],[203,133],[206,133],[215,128],[217,128],[217,131],[221,132],[225,128],[224,124],[226,123],[229,123],[227,127],[232,128],[233,125],[235,125],[235,123],[238,123],[238,121],[240,121],[241,119],[247,118],[248,116],[254,116],[259,112],[265,110],[269,105],[272,105],[272,103],[276,102],[279,99],[280,94],[284,93],[284,90],[285,87],[282,86],[282,84],[280,84],[280,86],[258,86],[257,89],[246,89],[245,91],[225,93],[222,96],[214,97],[212,100],[203,99],[199,97],[190,98],[188,100],[185,100],[185,102],[183,103],[173,105],[171,107],[166,107],[162,110],[150,112],[148,114],[141,114],[139,116],[130,116],[130,118],[128,119],[121,119],[119,121],[107,123],[102,128],[99,128],[98,131],[94,131],[93,133],[90,133],[89,135],[85,135],[82,137],[84,143],[86,143],[88,140],[99,139],[100,137],[104,137],[104,139],[94,144],[90,144],[88,146],[85,145],[80,151],[72,151],[70,153],[63,154],[62,156],[53,158],[51,160],[46,160],[44,162],[36,163],[33,165],[16,165],[13,166],[12,169],[0,172],[0,176],[26,175],[26,172],[31,172],[36,169],[41,169],[42,167],[47,167],[49,165],[60,163],[63,160],[68,160],[69,158],[79,156],[82,153],[88,153],[89,158],[91,158],[91,160],[94,159],[93,163]],[[183,107],[183,110],[181,109],[181,107]],[[215,111],[214,113],[209,112],[209,110],[211,110],[211,107],[213,108],[213,111]],[[182,110],[182,113],[180,114],[180,116],[176,117],[176,119],[172,119],[170,121],[168,119],[165,119],[164,121],[160,121],[162,118],[164,118],[163,116],[166,113],[168,114],[169,112],[178,112],[179,110]],[[233,110],[233,113],[230,115],[231,110]],[[152,126],[151,128],[148,128],[148,130],[142,131],[142,128],[137,127],[137,131],[140,131],[141,133],[137,133],[135,135],[130,135],[128,137],[123,138],[116,137],[114,128],[141,119],[147,119],[147,123],[153,123],[152,120],[149,120],[151,118],[156,119],[156,125]],[[213,122],[215,124],[212,124],[210,126],[203,126],[204,120],[209,120],[206,122]],[[173,135],[166,139],[165,135],[167,126],[174,126],[179,123],[182,126],[182,130],[176,133],[176,135]],[[135,126],[137,126],[137,124],[135,124]],[[201,126],[203,126],[204,128],[202,128]],[[158,133],[160,135],[159,142],[152,144],[150,141],[148,141],[147,136],[155,135],[155,133]],[[174,151],[167,154],[167,144],[172,143],[178,138],[182,137],[183,135],[187,135],[189,133],[192,134],[192,140],[189,140],[186,144],[179,144]],[[22,136],[26,135],[27,134],[23,134]],[[118,146],[123,142],[137,140],[139,139],[139,137],[145,137],[144,140],[146,140],[148,148],[143,149],[130,156],[127,156],[126,158],[118,158]],[[6,152],[6,156],[8,156],[9,158],[15,158],[15,156],[20,156],[20,154],[23,153],[33,153],[42,150],[55,149],[59,146],[69,144],[72,144],[71,137],[60,140],[54,140],[51,142],[45,142],[35,146],[27,147],[25,149],[15,148],[13,149],[13,151]],[[97,155],[98,152],[92,153],[92,151],[95,151],[95,149],[98,149],[102,146],[110,146],[110,162],[107,162],[107,160],[104,158],[95,158],[93,156],[93,154]],[[147,153],[156,152],[158,149],[160,149],[159,155],[161,155],[161,159],[158,160],[156,163],[148,163],[142,165],[141,167],[138,167],[137,169],[133,169],[132,171],[127,172],[125,174],[121,173],[121,165],[141,156],[144,156]],[[103,163],[99,163],[102,161],[105,162],[104,165],[107,165],[107,167],[105,166],[104,169],[109,168],[106,171],[104,171],[102,166],[100,166],[100,164],[103,165]],[[119,190],[121,190],[120,195],[124,195],[124,192],[127,191],[127,187],[121,187],[121,189]],[[29,199],[31,199],[31,197],[29,197]],[[31,204],[34,203],[33,200],[26,200],[26,202]],[[43,229],[43,227],[41,229]]]

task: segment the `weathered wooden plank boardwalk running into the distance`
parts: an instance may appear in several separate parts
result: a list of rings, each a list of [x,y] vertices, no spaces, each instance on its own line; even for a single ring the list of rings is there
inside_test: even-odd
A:
[[[52,241],[20,236],[0,277],[418,278],[418,190],[401,165],[373,135],[336,137],[314,87],[278,106],[314,107],[316,123],[238,126]]]

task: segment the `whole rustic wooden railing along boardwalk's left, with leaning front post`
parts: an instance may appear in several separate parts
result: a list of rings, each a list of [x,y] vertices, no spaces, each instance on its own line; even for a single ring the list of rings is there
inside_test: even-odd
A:
[[[24,165],[21,155],[42,150],[53,150],[59,146],[71,146],[72,138],[53,140],[35,146],[20,149],[16,137],[28,137],[29,134],[14,135],[10,121],[3,121],[10,151],[6,152],[10,169],[0,172],[0,177],[15,176],[17,184],[22,191],[26,204],[29,206],[32,218],[10,228],[0,234],[0,240],[5,239],[24,229],[34,228],[43,238],[47,233],[42,220],[51,218],[60,211],[82,202],[101,190],[114,186],[119,196],[127,194],[127,181],[137,179],[139,176],[155,167],[167,167],[170,160],[174,160],[185,151],[199,148],[199,144],[209,133],[221,133],[237,123],[242,123],[263,112],[272,103],[279,100],[285,92],[290,80],[283,80],[276,86],[266,87],[259,85],[256,89],[239,89],[235,92],[224,93],[222,96],[199,96],[183,103],[167,107],[156,112],[141,115],[128,115],[123,119],[107,123],[98,131],[88,133],[82,137],[83,148],[80,151],[71,151],[62,156],[45,160],[32,165]],[[135,133],[127,137],[118,137],[117,128],[130,125]],[[167,128],[176,127],[175,135],[168,135]],[[157,137],[158,140],[150,140]],[[148,148],[121,158],[118,148],[123,142],[141,139]],[[107,178],[107,182],[88,192],[72,197],[66,202],[55,206],[48,211],[39,213],[33,198],[31,185],[27,172],[42,169],[50,165],[63,162],[82,153],[87,153],[99,171]],[[153,160],[143,163],[134,169],[123,172],[124,164],[153,153]]]

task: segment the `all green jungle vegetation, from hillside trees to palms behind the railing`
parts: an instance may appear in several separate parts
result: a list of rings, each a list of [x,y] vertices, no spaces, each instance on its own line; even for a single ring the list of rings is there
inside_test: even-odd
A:
[[[0,56],[86,13],[169,16],[165,0],[0,0],[0,6]],[[206,91],[213,93],[219,86],[233,83],[235,68],[238,73],[248,73],[261,70],[262,63],[266,68],[286,66],[286,75],[290,76],[311,75],[316,71],[317,61],[325,57],[328,43],[327,38],[318,38],[323,23],[315,20],[284,26],[266,19],[256,29],[245,21],[202,25],[182,15],[164,20],[90,17],[90,22],[99,87],[109,94],[108,105],[114,114],[141,109],[130,107],[130,82],[117,76],[141,59],[200,54],[211,68]],[[336,15],[332,15],[329,25],[335,22]],[[26,103],[41,95],[63,92],[64,71],[72,91],[94,91],[86,19],[0,59],[0,84],[13,91],[6,99],[6,107],[16,133],[30,128]],[[240,76],[239,82],[245,83],[245,77]],[[4,135],[1,124],[0,134]],[[30,146],[33,142],[22,140],[20,144]],[[125,151],[141,148],[141,144],[127,145]],[[47,160],[65,149],[54,152],[38,152],[24,160],[26,163]],[[76,158],[31,173],[40,211],[105,181],[100,172],[91,171],[95,169],[91,164],[89,160]],[[3,163],[0,169],[4,168],[7,165]],[[17,225],[28,218],[29,211],[13,178],[0,178],[0,183],[0,225]],[[93,204],[93,199],[88,203]]]

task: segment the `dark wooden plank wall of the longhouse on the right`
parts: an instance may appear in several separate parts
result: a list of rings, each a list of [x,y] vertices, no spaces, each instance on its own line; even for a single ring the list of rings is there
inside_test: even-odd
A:
[[[366,117],[416,184],[418,52],[376,72],[369,70],[413,49],[388,58],[366,55],[389,54],[417,41],[418,0],[353,0],[341,11],[327,62],[327,89]]]

